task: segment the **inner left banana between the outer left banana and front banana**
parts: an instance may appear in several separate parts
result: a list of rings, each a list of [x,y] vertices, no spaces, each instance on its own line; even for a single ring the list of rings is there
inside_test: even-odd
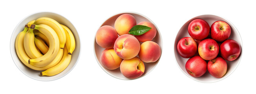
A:
[[[33,29],[29,29],[29,31],[27,31],[27,33],[24,36],[24,48],[27,55],[31,59],[39,58],[43,56],[40,52],[37,51],[34,38],[35,38],[35,35],[33,33]]]

